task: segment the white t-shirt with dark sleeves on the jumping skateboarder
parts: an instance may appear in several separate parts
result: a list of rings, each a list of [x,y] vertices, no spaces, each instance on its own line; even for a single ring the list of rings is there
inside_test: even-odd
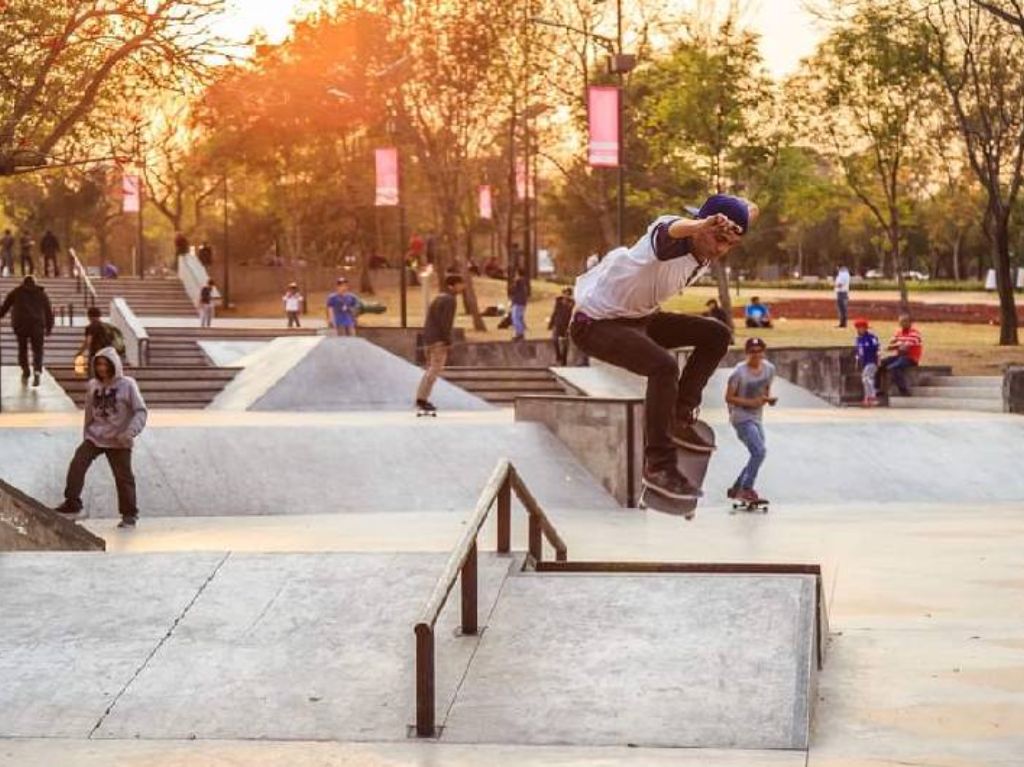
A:
[[[654,229],[679,216],[660,216],[632,248],[615,248],[575,282],[575,308],[594,319],[643,317],[699,278],[708,266],[693,255],[659,261]]]

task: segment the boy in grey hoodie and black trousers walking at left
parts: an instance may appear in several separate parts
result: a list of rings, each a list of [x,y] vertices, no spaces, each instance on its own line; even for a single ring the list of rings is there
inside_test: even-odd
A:
[[[81,518],[85,474],[100,455],[114,472],[118,489],[118,527],[134,527],[138,517],[135,503],[135,475],[131,470],[131,449],[146,419],[145,401],[134,378],[124,375],[121,357],[113,347],[96,352],[93,377],[85,398],[85,438],[68,467],[65,502],[57,511]]]

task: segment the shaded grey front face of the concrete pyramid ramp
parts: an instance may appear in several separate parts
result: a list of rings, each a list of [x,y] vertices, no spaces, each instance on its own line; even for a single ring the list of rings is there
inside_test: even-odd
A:
[[[366,339],[324,337],[250,410],[408,411],[422,376],[422,369]],[[490,409],[443,380],[431,400],[441,411]]]

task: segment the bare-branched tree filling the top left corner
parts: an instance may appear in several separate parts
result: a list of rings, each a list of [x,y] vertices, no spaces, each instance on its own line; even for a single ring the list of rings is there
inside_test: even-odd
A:
[[[20,0],[0,10],[0,172],[87,155],[104,122],[202,78],[223,0]],[[55,154],[60,153],[60,157]]]

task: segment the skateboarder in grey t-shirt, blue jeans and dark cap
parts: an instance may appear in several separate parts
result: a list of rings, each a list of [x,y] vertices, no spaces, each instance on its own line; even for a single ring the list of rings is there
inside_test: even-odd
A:
[[[766,404],[775,404],[771,385],[775,379],[775,366],[765,359],[767,344],[760,338],[749,338],[743,350],[746,361],[740,363],[729,376],[725,401],[729,407],[729,423],[739,441],[750,453],[750,459],[736,481],[726,495],[736,501],[756,503],[764,501],[754,489],[758,472],[768,455],[762,413]]]

